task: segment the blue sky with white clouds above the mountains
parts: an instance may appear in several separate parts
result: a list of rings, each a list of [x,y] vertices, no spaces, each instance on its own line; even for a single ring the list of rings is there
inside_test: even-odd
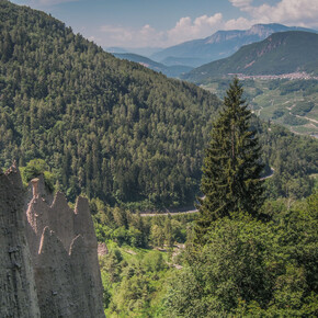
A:
[[[282,23],[318,30],[318,0],[12,0],[106,47],[168,47],[218,30]]]

